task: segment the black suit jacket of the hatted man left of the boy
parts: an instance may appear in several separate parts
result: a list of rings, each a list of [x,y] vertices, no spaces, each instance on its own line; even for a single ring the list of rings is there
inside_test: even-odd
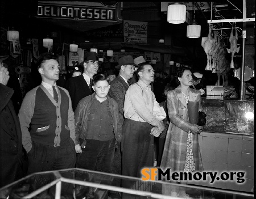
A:
[[[65,88],[68,90],[71,97],[73,111],[75,111],[77,104],[82,98],[92,95],[92,91],[90,91],[90,88],[82,75],[69,78],[65,84]]]

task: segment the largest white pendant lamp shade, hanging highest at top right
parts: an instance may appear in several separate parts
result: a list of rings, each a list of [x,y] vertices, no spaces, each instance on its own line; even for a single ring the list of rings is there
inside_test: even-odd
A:
[[[186,21],[186,6],[175,3],[168,6],[167,22],[179,24]]]

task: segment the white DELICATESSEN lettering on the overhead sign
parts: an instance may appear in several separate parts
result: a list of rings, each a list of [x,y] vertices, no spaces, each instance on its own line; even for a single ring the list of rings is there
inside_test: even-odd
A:
[[[114,8],[39,5],[38,17],[115,21]]]

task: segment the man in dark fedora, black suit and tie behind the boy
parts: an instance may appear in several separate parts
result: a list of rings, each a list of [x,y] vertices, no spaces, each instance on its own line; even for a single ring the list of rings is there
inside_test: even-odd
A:
[[[73,111],[82,98],[92,94],[92,78],[98,71],[99,63],[102,62],[98,61],[96,52],[87,52],[84,61],[79,64],[84,67],[84,73],[68,79],[65,88],[71,97]]]

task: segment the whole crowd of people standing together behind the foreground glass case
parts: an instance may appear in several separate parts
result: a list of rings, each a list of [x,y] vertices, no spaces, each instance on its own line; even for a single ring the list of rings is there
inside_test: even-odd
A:
[[[88,52],[60,87],[59,63],[44,53],[38,60],[42,83],[27,92],[17,117],[9,72],[0,64],[0,187],[34,172],[65,168],[112,173],[114,164],[120,164],[117,174],[141,177],[143,167],[154,167],[154,148],[158,167],[203,170],[202,128],[189,123],[187,111],[188,101],[201,103],[196,88],[201,74],[181,67],[156,78],[150,63],[130,55],[118,60],[118,75],[102,74],[97,54]],[[156,117],[155,103],[166,112],[164,120]]]

